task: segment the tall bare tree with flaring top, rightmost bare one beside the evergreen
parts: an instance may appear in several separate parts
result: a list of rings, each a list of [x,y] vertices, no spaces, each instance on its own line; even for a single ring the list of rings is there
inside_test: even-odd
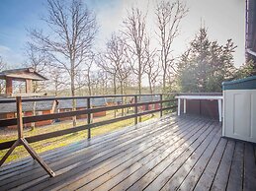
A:
[[[160,58],[163,70],[163,91],[166,89],[168,71],[171,71],[170,68],[174,69],[171,45],[179,34],[180,23],[187,12],[188,9],[181,0],[176,0],[175,2],[162,0],[156,7],[157,27],[159,30],[156,33],[161,45]]]

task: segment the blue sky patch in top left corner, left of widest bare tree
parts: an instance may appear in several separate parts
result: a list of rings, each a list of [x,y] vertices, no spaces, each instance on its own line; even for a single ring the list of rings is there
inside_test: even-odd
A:
[[[26,29],[39,27],[44,11],[43,0],[0,1],[0,55],[9,65],[24,61]]]

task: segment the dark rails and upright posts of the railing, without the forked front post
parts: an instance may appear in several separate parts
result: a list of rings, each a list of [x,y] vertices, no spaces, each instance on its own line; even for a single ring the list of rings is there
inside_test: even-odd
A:
[[[72,127],[70,129],[54,131],[54,132],[50,132],[50,133],[45,133],[45,134],[41,134],[41,135],[37,135],[37,136],[27,137],[26,140],[29,143],[34,143],[34,142],[42,141],[44,139],[49,139],[49,138],[62,136],[62,135],[66,135],[66,134],[70,134],[70,133],[74,133],[74,132],[78,132],[78,131],[83,131],[83,130],[88,130],[88,139],[90,139],[91,138],[91,133],[90,133],[91,128],[106,125],[106,124],[111,124],[111,123],[122,121],[122,120],[127,120],[127,119],[130,119],[130,118],[134,118],[134,123],[136,124],[137,123],[137,117],[139,117],[139,116],[146,115],[146,114],[149,114],[149,113],[154,113],[154,112],[160,112],[160,115],[162,115],[163,110],[172,109],[172,108],[177,107],[177,104],[174,104],[172,106],[163,107],[163,103],[165,103],[165,102],[174,102],[177,99],[176,98],[162,99],[162,96],[163,96],[162,94],[157,94],[157,95],[160,96],[160,100],[146,101],[146,102],[137,102],[138,101],[137,96],[156,96],[156,95],[123,95],[123,96],[133,96],[134,97],[134,102],[133,103],[128,103],[128,104],[121,104],[121,105],[114,105],[114,106],[104,106],[104,107],[95,107],[95,108],[91,108],[91,106],[90,106],[90,99],[91,98],[112,97],[112,96],[24,98],[24,99],[22,99],[22,101],[29,101],[29,100],[30,101],[42,101],[42,100],[49,100],[51,98],[54,98],[54,100],[56,100],[56,99],[58,100],[58,99],[87,98],[87,104],[88,104],[86,109],[81,109],[81,110],[74,110],[74,111],[67,111],[67,112],[60,112],[60,113],[51,113],[51,114],[43,114],[43,115],[22,117],[23,123],[32,123],[32,122],[38,122],[38,121],[44,121],[44,120],[59,119],[59,118],[63,118],[63,117],[78,116],[78,115],[84,115],[84,114],[88,115],[86,125]],[[117,96],[121,96],[121,95],[117,95]],[[0,103],[1,103],[1,101],[0,101]],[[156,103],[160,104],[159,109],[153,109],[153,110],[148,110],[148,111],[144,111],[144,112],[138,112],[139,111],[139,109],[138,109],[139,106],[148,105],[148,104],[156,104]],[[90,115],[93,114],[93,113],[97,113],[97,112],[101,112],[101,111],[122,109],[122,108],[129,108],[129,107],[134,107],[134,114],[129,114],[127,116],[122,116],[122,117],[118,117],[118,118],[114,118],[114,119],[110,119],[110,120],[105,120],[105,121],[101,121],[101,122],[91,123]],[[2,120],[0,120],[0,127],[17,125],[17,121],[18,121],[17,118],[2,119]],[[14,142],[15,142],[15,140],[0,143],[0,150],[10,148],[12,146],[12,144],[14,144]]]

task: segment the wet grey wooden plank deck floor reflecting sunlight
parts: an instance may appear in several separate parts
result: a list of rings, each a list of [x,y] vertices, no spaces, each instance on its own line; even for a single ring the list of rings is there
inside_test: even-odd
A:
[[[218,122],[164,116],[0,168],[0,190],[256,190],[256,145]]]

